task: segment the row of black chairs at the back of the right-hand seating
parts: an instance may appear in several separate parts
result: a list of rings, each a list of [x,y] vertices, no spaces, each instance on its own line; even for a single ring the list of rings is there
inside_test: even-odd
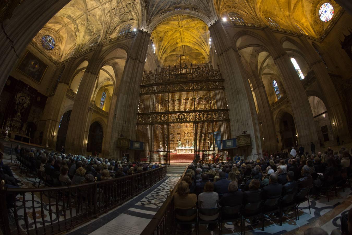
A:
[[[241,234],[242,234],[242,231],[245,234],[246,219],[255,220],[258,218],[261,218],[261,219],[256,223],[251,223],[251,225],[261,223],[262,231],[264,231],[264,217],[266,215],[268,215],[268,218],[270,219],[270,221],[271,221],[272,215],[275,215],[276,217],[278,217],[279,225],[281,226],[282,215],[283,214],[285,215],[285,212],[287,212],[289,209],[294,209],[295,220],[297,220],[297,218],[299,219],[298,212],[304,208],[298,209],[298,206],[303,202],[308,201],[309,214],[310,214],[310,204],[309,204],[309,194],[308,194],[309,190],[310,190],[310,187],[302,188],[302,189],[299,189],[298,192],[296,193],[286,194],[283,197],[270,198],[270,199],[262,200],[255,203],[247,203],[245,205],[222,206],[222,207],[216,207],[216,208],[210,208],[210,209],[203,209],[203,208],[175,209],[176,216],[178,215],[182,217],[194,217],[190,221],[183,221],[180,219],[176,219],[176,231],[190,231],[189,229],[182,230],[182,227],[181,229],[178,229],[178,225],[191,226],[194,224],[196,234],[199,234],[200,224],[216,224],[216,227],[218,228],[214,230],[219,230],[219,234],[221,234],[222,223],[232,222],[235,225],[238,223],[238,221],[240,221],[239,227],[240,227]],[[208,220],[201,219],[200,215],[204,215],[204,216],[218,215],[218,217],[216,219],[208,221]],[[236,227],[238,226],[234,226],[234,228]]]

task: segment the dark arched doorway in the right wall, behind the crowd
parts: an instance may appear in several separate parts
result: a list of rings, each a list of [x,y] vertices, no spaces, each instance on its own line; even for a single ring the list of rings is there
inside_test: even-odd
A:
[[[280,134],[282,149],[291,149],[292,146],[298,146],[295,122],[289,113],[284,113],[280,119]]]

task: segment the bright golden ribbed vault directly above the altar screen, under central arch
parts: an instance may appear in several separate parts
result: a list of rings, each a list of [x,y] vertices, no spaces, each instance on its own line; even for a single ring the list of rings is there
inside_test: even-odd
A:
[[[208,26],[200,19],[176,15],[165,19],[152,32],[158,61],[178,64],[180,57],[189,63],[204,63],[209,55]]]

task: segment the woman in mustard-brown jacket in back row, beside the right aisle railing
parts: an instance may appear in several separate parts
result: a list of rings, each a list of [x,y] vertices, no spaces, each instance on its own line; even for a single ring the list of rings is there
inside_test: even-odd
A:
[[[174,194],[174,206],[175,209],[191,209],[195,208],[197,202],[197,195],[189,193],[188,183],[181,181],[177,184],[176,192]],[[190,221],[196,217],[196,214],[192,216],[180,216],[176,214],[176,218],[183,221]]]

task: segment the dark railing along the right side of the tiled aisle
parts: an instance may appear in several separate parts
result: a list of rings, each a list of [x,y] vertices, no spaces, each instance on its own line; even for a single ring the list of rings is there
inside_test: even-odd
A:
[[[186,174],[188,166],[184,169],[180,179],[178,180],[174,189],[170,189],[170,194],[166,198],[161,208],[156,212],[152,220],[142,231],[140,235],[162,235],[162,234],[174,234],[176,231],[175,223],[175,212],[174,212],[174,194],[177,190],[177,185],[180,183]]]

